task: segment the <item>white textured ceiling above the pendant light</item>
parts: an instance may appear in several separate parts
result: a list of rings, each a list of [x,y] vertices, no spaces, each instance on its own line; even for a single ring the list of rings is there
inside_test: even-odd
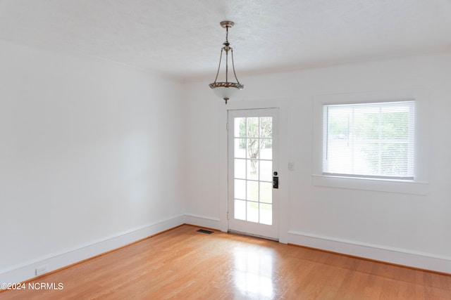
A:
[[[214,79],[225,30],[237,75],[451,51],[451,0],[0,0],[0,39]]]

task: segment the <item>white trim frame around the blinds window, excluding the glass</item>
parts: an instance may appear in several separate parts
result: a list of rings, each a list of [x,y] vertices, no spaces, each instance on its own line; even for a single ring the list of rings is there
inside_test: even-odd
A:
[[[428,107],[425,99],[428,91],[414,89],[402,91],[373,91],[362,93],[339,93],[316,95],[313,98],[313,160],[312,182],[315,186],[329,188],[347,188],[373,190],[388,193],[406,193],[426,195],[427,182],[427,147],[428,147]],[[415,143],[414,143],[414,178],[374,178],[323,174],[323,105],[359,104],[415,101]]]

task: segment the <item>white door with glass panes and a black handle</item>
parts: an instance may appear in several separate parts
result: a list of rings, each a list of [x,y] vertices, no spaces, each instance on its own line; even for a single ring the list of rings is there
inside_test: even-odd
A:
[[[229,110],[229,231],[278,240],[277,170],[278,109]]]

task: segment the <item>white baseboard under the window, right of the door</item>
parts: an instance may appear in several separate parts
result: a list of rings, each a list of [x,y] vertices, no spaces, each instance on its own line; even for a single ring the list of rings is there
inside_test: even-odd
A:
[[[451,274],[451,256],[438,256],[407,249],[385,247],[378,244],[366,244],[334,237],[299,233],[292,230],[288,231],[288,243]]]

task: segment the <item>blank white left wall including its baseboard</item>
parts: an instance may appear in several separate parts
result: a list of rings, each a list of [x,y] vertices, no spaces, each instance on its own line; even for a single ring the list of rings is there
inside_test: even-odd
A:
[[[184,222],[180,84],[0,43],[0,282]]]

